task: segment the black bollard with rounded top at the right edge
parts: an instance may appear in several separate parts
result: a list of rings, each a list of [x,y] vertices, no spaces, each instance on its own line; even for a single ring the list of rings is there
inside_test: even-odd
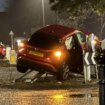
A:
[[[105,105],[105,52],[97,53],[95,60],[99,70],[99,105]]]

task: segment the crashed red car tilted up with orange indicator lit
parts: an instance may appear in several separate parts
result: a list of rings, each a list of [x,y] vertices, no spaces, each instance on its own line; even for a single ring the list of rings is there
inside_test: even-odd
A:
[[[83,37],[81,37],[83,36]],[[63,25],[48,25],[37,30],[21,44],[17,54],[17,70],[50,72],[57,80],[66,80],[70,73],[83,73],[82,31]]]

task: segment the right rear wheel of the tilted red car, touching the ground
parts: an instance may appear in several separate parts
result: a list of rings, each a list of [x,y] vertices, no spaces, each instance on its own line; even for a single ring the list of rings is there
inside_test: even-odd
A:
[[[59,81],[63,81],[63,80],[66,80],[68,77],[69,77],[69,65],[64,62],[60,69],[59,69],[59,72],[57,73],[57,80]]]

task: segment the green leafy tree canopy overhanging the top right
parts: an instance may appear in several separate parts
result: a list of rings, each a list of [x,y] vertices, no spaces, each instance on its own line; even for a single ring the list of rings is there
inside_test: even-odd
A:
[[[87,10],[96,12],[98,15],[105,11],[105,0],[56,0],[53,2],[52,9],[59,12],[65,11],[74,16],[83,15]]]

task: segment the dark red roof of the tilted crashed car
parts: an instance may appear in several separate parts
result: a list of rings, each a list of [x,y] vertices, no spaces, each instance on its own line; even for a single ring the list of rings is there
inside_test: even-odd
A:
[[[62,39],[70,33],[76,31],[76,29],[62,25],[48,25],[46,27],[41,28],[39,31],[44,32],[46,34],[58,36]]]

